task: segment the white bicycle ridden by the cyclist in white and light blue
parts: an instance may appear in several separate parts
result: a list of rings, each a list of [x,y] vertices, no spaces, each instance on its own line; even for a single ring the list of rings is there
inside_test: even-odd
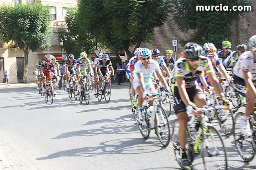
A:
[[[149,100],[153,100],[152,116],[148,115],[148,101],[144,101],[142,109],[142,117],[144,120],[141,120],[136,114],[136,121],[140,129],[140,133],[144,139],[148,139],[151,129],[155,129],[155,133],[160,141],[160,143],[167,147],[170,142],[170,125],[168,122],[168,117],[164,108],[160,105],[161,93],[151,93]]]

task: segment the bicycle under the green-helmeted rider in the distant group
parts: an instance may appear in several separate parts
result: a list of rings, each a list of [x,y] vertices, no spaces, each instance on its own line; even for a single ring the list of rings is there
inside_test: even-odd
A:
[[[81,80],[81,92],[78,92],[78,98],[79,98],[79,102],[82,103],[83,102],[83,98],[85,100],[86,105],[89,104],[90,102],[90,91],[89,91],[89,86],[87,81],[84,81],[84,79],[87,76],[81,76],[80,80]]]

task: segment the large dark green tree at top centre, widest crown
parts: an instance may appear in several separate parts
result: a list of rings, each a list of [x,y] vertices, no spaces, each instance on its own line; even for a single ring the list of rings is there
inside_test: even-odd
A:
[[[164,25],[169,7],[170,0],[80,0],[79,25],[112,51],[124,50],[130,58],[142,42],[153,39],[156,27]]]

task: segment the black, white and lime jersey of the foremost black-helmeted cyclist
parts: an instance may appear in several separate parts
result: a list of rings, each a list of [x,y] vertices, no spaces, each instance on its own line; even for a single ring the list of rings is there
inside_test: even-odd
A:
[[[175,86],[177,85],[176,77],[183,77],[186,83],[186,88],[190,88],[195,85],[196,79],[200,76],[200,74],[204,71],[206,73],[212,72],[212,63],[210,59],[204,56],[200,56],[201,61],[198,67],[196,68],[195,74],[192,74],[189,64],[186,61],[185,58],[180,58],[175,63],[175,72],[174,72],[174,78],[172,80],[172,83]]]

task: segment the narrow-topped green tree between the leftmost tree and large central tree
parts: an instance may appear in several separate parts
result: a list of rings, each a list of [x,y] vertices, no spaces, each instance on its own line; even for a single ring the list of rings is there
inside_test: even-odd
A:
[[[80,53],[86,52],[92,54],[95,47],[93,35],[87,35],[77,23],[76,8],[68,8],[66,13],[66,30],[59,33],[60,39],[63,39],[63,49],[68,54],[73,54],[76,59],[80,57]]]

